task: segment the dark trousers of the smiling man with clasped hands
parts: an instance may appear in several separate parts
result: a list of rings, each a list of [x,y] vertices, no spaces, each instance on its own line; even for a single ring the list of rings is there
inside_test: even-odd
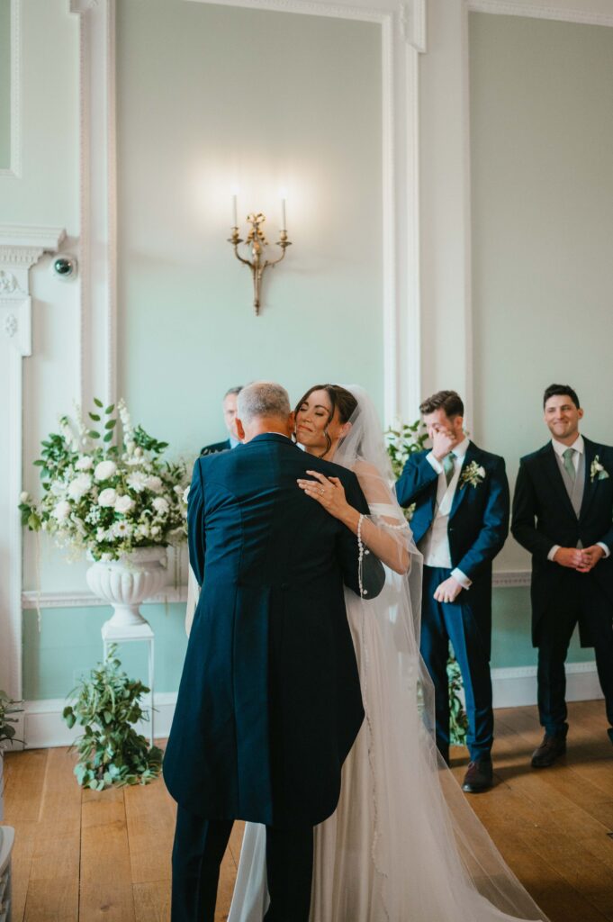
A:
[[[594,643],[607,719],[613,727],[613,606],[593,581],[586,584],[584,573],[569,570],[560,576],[560,592],[542,617],[538,643],[538,715],[551,737],[565,737],[568,731],[564,662],[579,618]]]

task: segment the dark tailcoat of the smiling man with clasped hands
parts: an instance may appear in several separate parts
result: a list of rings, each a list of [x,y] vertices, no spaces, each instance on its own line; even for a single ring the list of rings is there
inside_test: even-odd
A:
[[[539,644],[539,624],[548,606],[555,604],[563,591],[565,568],[548,561],[554,544],[575,548],[581,540],[584,548],[598,541],[613,550],[613,448],[584,438],[585,486],[579,518],[577,518],[555,456],[548,442],[520,462],[513,496],[513,537],[532,554],[532,642]],[[596,455],[609,475],[606,479],[591,477]],[[582,574],[587,604],[590,596],[604,591],[613,602],[613,558],[599,561],[594,570]],[[580,619],[579,628],[584,646],[590,637]]]

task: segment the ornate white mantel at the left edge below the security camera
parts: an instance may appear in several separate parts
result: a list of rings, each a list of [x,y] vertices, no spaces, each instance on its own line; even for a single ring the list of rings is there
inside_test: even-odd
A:
[[[7,547],[0,554],[0,687],[21,697],[21,445],[24,407],[22,360],[31,355],[29,269],[43,253],[55,253],[61,228],[0,225],[0,429],[5,434],[0,509],[6,516]],[[5,467],[6,466],[6,469]]]

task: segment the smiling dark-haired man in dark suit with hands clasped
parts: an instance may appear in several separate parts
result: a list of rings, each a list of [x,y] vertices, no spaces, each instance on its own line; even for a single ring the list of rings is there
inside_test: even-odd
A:
[[[535,768],[566,751],[564,662],[577,621],[582,645],[595,648],[613,742],[613,448],[579,434],[584,410],[568,384],[551,384],[543,408],[551,441],[521,460],[511,526],[532,554],[532,642],[545,728]]]

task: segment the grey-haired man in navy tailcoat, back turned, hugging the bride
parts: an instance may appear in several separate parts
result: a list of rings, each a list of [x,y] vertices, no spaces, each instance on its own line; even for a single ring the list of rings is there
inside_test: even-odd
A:
[[[278,384],[239,397],[236,450],[199,458],[189,493],[190,561],[203,586],[164,759],[178,802],[172,922],[213,922],[219,862],[236,819],[265,823],[266,922],[307,922],[312,827],[336,809],[363,710],[343,584],[360,593],[348,528],[297,485],[355,475],[305,455]],[[369,554],[363,594],[383,588]]]

